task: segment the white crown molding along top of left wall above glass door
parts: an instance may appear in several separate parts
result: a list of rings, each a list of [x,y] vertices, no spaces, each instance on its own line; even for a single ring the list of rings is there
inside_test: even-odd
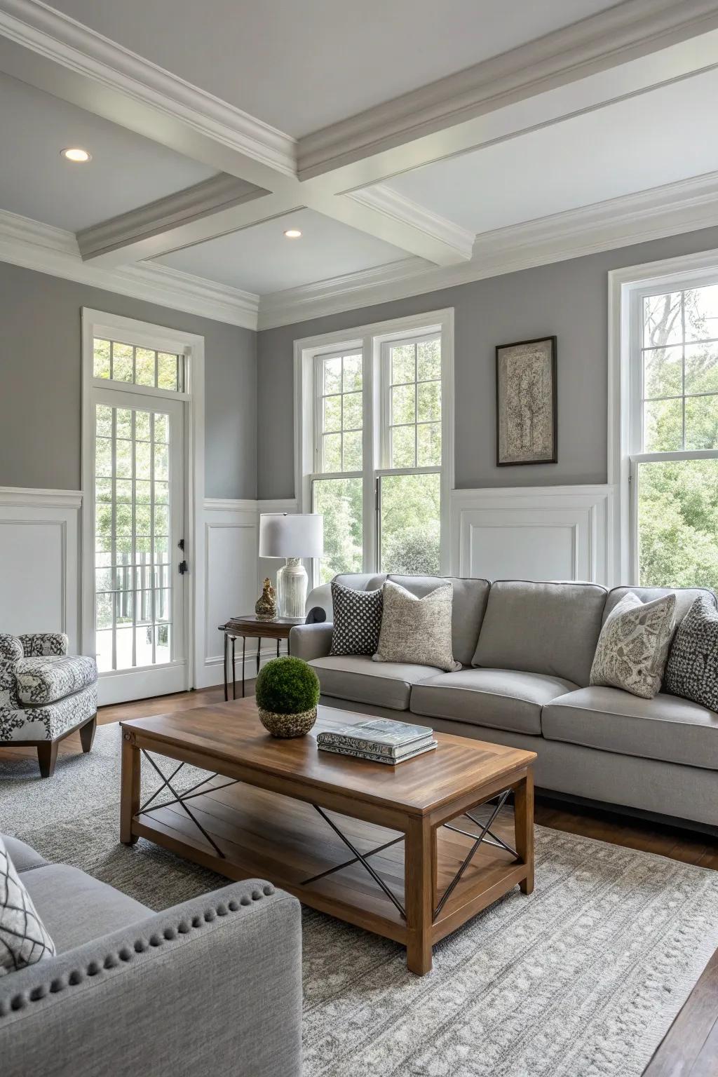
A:
[[[71,232],[0,210],[0,262],[119,295],[256,330],[259,297],[168,266],[140,262],[104,269],[83,262]]]

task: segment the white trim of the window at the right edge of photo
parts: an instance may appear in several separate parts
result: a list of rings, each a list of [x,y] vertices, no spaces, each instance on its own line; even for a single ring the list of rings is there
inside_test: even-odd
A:
[[[608,484],[614,487],[609,521],[609,581],[638,583],[637,498],[631,480],[640,461],[717,459],[718,450],[639,452],[640,364],[639,304],[644,295],[699,288],[718,281],[718,250],[613,269],[608,274]]]

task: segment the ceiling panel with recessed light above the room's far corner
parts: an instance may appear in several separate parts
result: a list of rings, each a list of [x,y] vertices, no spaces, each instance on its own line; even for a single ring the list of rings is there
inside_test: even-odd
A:
[[[287,228],[300,239],[287,239]],[[304,209],[157,258],[184,272],[265,295],[405,258],[391,243]]]

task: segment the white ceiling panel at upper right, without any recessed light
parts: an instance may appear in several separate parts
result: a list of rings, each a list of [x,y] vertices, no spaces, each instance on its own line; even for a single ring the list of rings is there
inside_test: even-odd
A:
[[[483,150],[390,186],[474,233],[718,170],[709,71]]]

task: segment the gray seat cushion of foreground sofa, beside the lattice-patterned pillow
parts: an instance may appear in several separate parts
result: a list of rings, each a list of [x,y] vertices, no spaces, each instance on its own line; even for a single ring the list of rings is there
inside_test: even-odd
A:
[[[58,953],[152,915],[135,898],[67,864],[26,871],[23,881]]]

